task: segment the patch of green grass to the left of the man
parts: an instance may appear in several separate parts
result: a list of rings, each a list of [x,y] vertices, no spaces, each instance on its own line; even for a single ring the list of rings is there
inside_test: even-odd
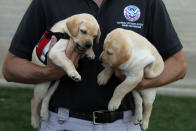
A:
[[[30,126],[31,89],[0,88],[0,131],[34,131]]]

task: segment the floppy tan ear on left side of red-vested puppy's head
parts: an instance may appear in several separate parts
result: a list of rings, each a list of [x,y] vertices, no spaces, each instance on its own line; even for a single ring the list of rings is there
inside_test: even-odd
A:
[[[69,30],[70,34],[73,37],[76,37],[78,35],[80,23],[81,23],[80,20],[77,19],[76,17],[71,17],[67,20],[66,22],[67,29]]]

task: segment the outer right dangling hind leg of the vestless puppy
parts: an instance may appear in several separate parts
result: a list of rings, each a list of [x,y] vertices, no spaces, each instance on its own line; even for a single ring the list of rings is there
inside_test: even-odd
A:
[[[151,112],[152,112],[152,105],[156,97],[156,88],[145,89],[145,90],[141,90],[140,92],[142,94],[143,103],[144,103],[142,128],[143,130],[147,130]]]

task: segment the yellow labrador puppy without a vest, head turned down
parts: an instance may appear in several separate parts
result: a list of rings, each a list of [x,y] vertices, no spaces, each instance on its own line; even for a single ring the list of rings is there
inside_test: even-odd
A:
[[[146,130],[156,96],[156,88],[140,91],[133,89],[143,77],[155,78],[162,73],[164,69],[162,57],[156,48],[141,35],[118,28],[107,35],[100,60],[103,61],[105,68],[98,75],[99,85],[108,82],[113,69],[123,70],[126,75],[126,79],[115,88],[108,110],[117,110],[124,96],[132,91],[136,108],[134,123],[142,124],[143,130]]]

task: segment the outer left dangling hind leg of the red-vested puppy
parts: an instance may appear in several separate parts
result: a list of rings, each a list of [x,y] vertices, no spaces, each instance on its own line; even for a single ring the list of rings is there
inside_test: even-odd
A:
[[[40,123],[40,118],[37,113],[38,106],[46,95],[50,82],[37,84],[34,88],[34,96],[31,99],[31,125],[33,128],[38,128]]]

